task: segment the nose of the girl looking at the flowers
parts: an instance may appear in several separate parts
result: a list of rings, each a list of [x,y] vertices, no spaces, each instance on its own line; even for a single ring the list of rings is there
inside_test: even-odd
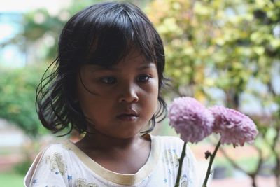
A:
[[[137,95],[137,88],[135,88],[134,85],[125,85],[121,88],[119,102],[132,103],[138,101],[139,97]]]

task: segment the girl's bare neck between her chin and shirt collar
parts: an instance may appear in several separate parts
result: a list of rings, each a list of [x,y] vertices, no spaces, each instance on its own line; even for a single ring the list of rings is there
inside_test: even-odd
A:
[[[76,146],[106,169],[122,174],[134,174],[148,160],[151,139],[148,135],[119,139],[104,134],[87,134]]]

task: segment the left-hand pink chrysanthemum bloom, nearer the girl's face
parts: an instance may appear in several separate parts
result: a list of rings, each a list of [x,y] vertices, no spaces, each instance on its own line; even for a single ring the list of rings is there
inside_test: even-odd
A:
[[[169,107],[169,125],[183,141],[201,141],[212,133],[214,117],[206,107],[191,97],[174,99]]]

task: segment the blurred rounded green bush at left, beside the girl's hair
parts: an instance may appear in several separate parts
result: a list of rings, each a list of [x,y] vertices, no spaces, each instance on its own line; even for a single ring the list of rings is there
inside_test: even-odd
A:
[[[44,132],[35,109],[35,90],[43,71],[43,67],[0,69],[0,117],[31,137]]]

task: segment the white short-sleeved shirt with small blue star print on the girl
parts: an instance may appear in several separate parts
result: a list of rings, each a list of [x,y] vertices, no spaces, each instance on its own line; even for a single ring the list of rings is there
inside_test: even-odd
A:
[[[94,162],[71,141],[51,144],[37,155],[25,176],[25,186],[172,187],[182,148],[183,141],[177,137],[151,136],[146,164],[135,174],[119,174]],[[198,186],[196,161],[188,146],[180,183],[182,187]]]

